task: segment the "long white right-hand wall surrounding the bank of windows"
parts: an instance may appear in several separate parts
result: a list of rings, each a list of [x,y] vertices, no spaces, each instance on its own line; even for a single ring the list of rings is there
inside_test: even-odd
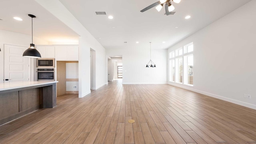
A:
[[[252,0],[169,48],[194,43],[194,86],[170,84],[256,109],[255,7]]]

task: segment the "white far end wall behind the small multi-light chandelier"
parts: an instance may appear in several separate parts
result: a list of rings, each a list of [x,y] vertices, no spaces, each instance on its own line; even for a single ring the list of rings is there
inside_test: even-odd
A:
[[[123,84],[166,84],[167,50],[153,49],[152,60],[156,68],[146,68],[150,60],[150,45],[141,44],[134,48],[107,49],[107,56],[122,55]]]

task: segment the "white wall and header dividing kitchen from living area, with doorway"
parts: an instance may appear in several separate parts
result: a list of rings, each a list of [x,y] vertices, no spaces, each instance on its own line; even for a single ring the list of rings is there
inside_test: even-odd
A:
[[[90,93],[90,48],[96,52],[96,89],[107,83],[105,48],[82,26],[59,0],[36,0],[79,37],[79,97]]]

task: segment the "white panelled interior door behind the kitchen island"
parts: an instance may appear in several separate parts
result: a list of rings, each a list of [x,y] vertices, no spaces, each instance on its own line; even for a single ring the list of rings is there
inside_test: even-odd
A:
[[[30,58],[23,57],[24,46],[4,45],[4,82],[29,81]]]

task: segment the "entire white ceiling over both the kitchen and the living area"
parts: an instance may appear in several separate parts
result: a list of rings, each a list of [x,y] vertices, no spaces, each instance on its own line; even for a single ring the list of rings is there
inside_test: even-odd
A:
[[[140,12],[156,1],[60,0],[104,48],[137,47],[148,42],[154,48],[169,48],[250,0],[181,0],[179,4],[172,2],[174,15],[164,15],[164,8]],[[107,16],[96,16],[95,11],[105,11]],[[37,16],[33,19],[34,36],[50,42],[78,40],[78,34],[34,0],[1,0],[0,19],[4,21],[0,21],[0,29],[30,35],[31,18],[27,14]],[[108,15],[114,19],[108,19]],[[191,16],[188,20],[184,19],[187,15]],[[14,16],[23,21],[14,20]]]

